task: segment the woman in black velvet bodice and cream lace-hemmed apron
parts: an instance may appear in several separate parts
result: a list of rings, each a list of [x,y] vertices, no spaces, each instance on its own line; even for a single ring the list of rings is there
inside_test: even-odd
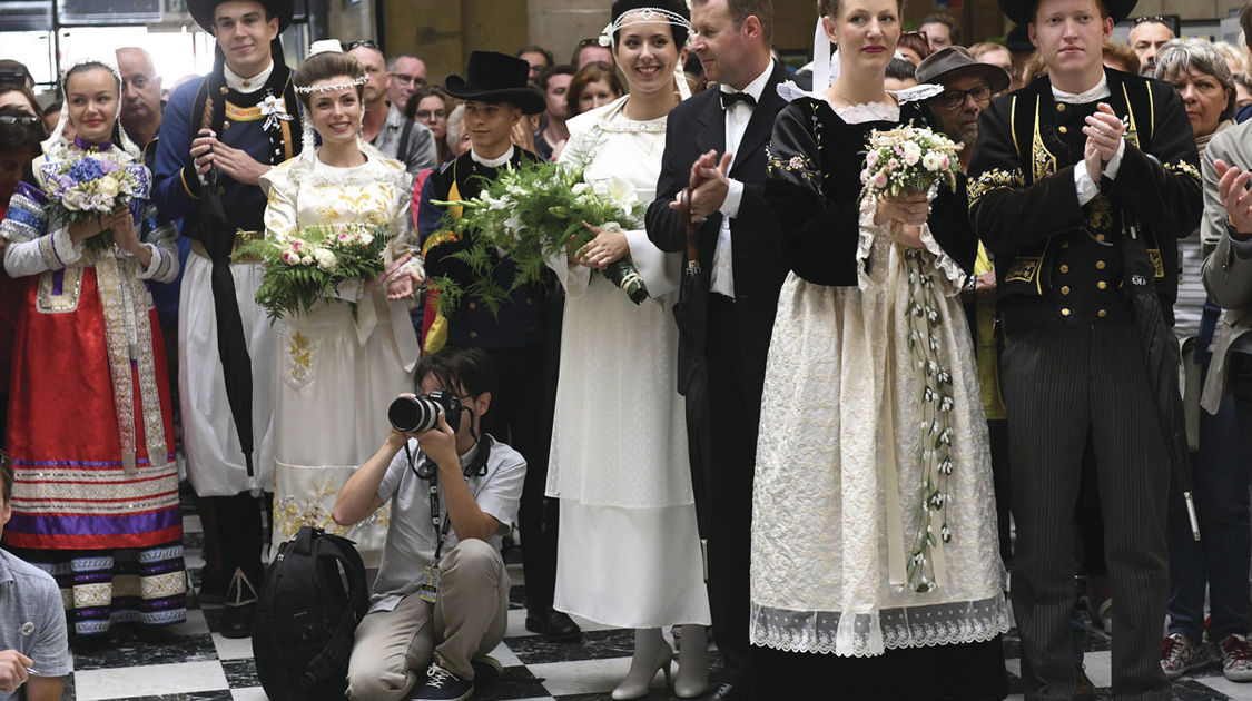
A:
[[[816,91],[793,91],[770,146],[765,197],[791,273],[761,406],[750,635],[780,651],[765,686],[796,685],[780,698],[813,697],[814,673],[848,698],[1005,692],[1004,568],[959,299],[974,240],[947,187],[933,203],[861,198],[871,131],[929,126],[928,86],[883,88],[899,13],[823,3]],[[913,317],[918,335],[914,297],[935,312]]]

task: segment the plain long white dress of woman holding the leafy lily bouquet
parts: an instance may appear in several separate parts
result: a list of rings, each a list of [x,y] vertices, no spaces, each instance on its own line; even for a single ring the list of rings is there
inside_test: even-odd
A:
[[[665,118],[635,121],[627,98],[570,120],[561,161],[587,163],[652,200]],[[590,158],[590,161],[586,159]],[[598,185],[597,185],[598,184]],[[677,387],[681,254],[626,232],[650,299],[634,304],[601,274],[552,260],[566,290],[547,494],[561,499],[555,606],[598,623],[709,625],[686,418]]]

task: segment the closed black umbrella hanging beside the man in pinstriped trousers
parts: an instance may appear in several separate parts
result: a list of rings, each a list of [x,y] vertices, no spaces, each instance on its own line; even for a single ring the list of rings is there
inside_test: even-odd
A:
[[[1126,289],[1134,310],[1134,323],[1143,339],[1143,359],[1148,367],[1161,434],[1166,441],[1174,481],[1182,488],[1182,497],[1187,502],[1192,537],[1198,541],[1199,522],[1196,519],[1196,504],[1192,501],[1191,449],[1187,447],[1187,426],[1182,393],[1178,389],[1178,343],[1174,340],[1173,330],[1166,325],[1161,300],[1152,283],[1156,267],[1148,258],[1148,250],[1134,227],[1131,228],[1128,237],[1122,237],[1122,260]]]

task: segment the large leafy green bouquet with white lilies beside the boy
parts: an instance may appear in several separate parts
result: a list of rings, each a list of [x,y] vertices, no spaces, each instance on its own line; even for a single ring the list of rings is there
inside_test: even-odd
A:
[[[492,250],[507,254],[517,265],[510,283],[510,289],[517,289],[541,282],[548,259],[577,250],[595,238],[582,225],[585,222],[607,230],[637,228],[645,208],[625,183],[588,184],[581,168],[543,161],[501,170],[473,199],[436,204],[463,208],[459,218],[449,214],[444,222],[456,237],[473,232],[470,248],[453,254],[470,265],[473,280],[467,285],[447,275],[432,280],[439,288],[439,313],[444,315],[456,310],[464,294],[482,300],[492,312],[508,297],[508,290],[496,282]],[[644,278],[629,258],[611,263],[601,273],[635,304],[647,299]]]

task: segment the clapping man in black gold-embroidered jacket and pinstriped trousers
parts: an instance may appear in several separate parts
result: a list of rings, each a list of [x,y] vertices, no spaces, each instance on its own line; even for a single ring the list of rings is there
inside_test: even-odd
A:
[[[1027,698],[1072,698],[1073,517],[1088,437],[1113,586],[1113,693],[1172,698],[1161,671],[1169,459],[1123,260],[1146,248],[1172,323],[1177,237],[1201,213],[1196,146],[1168,84],[1101,65],[1134,0],[1000,0],[1048,76],[979,120],[970,220],[994,253]],[[1151,294],[1148,294],[1151,298]]]

